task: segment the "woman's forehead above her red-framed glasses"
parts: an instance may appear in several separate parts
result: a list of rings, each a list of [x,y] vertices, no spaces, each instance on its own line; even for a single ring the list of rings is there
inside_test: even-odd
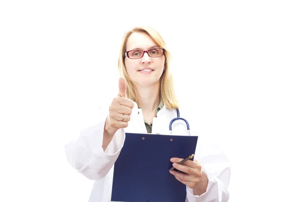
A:
[[[126,43],[126,50],[131,49],[148,49],[157,46],[157,43],[151,39],[146,33],[132,33]]]

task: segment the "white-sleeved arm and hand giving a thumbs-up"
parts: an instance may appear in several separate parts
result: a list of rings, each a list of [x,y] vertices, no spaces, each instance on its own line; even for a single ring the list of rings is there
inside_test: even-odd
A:
[[[127,99],[124,78],[119,79],[119,93],[107,110],[89,117],[88,124],[74,141],[65,145],[69,164],[85,177],[105,177],[118,159],[135,103]],[[122,119],[121,119],[122,118]]]

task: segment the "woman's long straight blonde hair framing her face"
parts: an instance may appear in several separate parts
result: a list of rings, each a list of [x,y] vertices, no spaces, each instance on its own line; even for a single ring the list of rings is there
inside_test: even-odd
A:
[[[126,52],[126,43],[129,38],[129,36],[134,33],[146,33],[149,35],[149,37],[160,47],[165,49],[165,63],[164,63],[164,71],[160,78],[160,96],[162,99],[162,102],[168,109],[176,109],[179,107],[178,99],[175,93],[174,83],[173,83],[173,76],[171,72],[171,55],[169,51],[166,48],[166,44],[162,38],[162,36],[153,28],[150,27],[134,27],[133,29],[127,31],[123,37],[121,49],[120,49],[120,55],[118,60],[118,69],[120,77],[123,77],[126,81],[126,94],[127,97],[134,102],[140,105],[140,100],[138,98],[138,95],[136,94],[136,91],[134,90],[134,82],[131,80],[131,78],[128,76],[125,68],[125,52]]]

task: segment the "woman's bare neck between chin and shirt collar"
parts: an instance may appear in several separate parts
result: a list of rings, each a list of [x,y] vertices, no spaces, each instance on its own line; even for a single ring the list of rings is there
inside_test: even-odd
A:
[[[154,112],[160,104],[160,83],[154,86],[136,86],[139,94],[140,107],[144,112]]]

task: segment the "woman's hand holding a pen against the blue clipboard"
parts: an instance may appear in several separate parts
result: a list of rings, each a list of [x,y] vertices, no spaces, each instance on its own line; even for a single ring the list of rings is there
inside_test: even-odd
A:
[[[184,173],[178,172],[176,169],[170,171],[170,173],[173,174],[177,180],[189,188],[192,188],[194,195],[205,193],[209,180],[201,164],[199,164],[197,160],[189,160],[182,165],[177,164],[182,160],[183,159],[180,158],[172,158],[171,162],[173,162],[174,168]]]

